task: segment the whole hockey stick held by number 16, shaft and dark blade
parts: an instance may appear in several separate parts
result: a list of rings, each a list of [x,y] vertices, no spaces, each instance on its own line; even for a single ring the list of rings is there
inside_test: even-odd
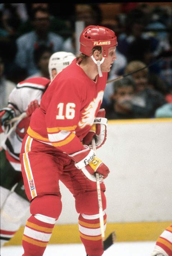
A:
[[[92,139],[92,149],[96,154],[96,143],[95,139]],[[96,184],[97,184],[97,198],[99,203],[99,219],[100,219],[100,229],[101,229],[101,238],[104,251],[107,250],[116,240],[115,231],[112,232],[109,237],[105,240],[105,231],[104,231],[104,219],[103,219],[103,208],[102,208],[102,199],[101,199],[101,190],[100,190],[100,177],[99,173],[96,173]]]

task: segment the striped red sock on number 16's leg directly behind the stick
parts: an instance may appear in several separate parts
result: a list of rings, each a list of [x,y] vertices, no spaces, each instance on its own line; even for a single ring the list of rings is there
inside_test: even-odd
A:
[[[86,253],[89,256],[101,256],[104,252],[101,240],[99,214],[80,214],[78,219],[79,232]],[[104,212],[104,229],[106,228],[106,214]]]

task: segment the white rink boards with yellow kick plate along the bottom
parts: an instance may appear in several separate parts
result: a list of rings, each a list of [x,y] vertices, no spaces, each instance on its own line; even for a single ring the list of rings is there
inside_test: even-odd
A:
[[[119,242],[155,241],[172,224],[172,118],[109,120],[97,156],[110,169],[106,236],[116,230]],[[63,208],[50,243],[80,243],[74,198],[60,187]],[[21,244],[23,229],[7,244]]]

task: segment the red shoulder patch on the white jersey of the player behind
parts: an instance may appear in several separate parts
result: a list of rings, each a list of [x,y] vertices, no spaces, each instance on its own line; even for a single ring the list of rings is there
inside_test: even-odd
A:
[[[51,82],[50,79],[46,78],[46,77],[32,77],[32,78],[28,78],[24,81],[21,81],[17,84],[17,88],[18,87],[26,87],[26,86],[30,86],[30,85],[40,85],[40,86],[47,86],[49,83]]]

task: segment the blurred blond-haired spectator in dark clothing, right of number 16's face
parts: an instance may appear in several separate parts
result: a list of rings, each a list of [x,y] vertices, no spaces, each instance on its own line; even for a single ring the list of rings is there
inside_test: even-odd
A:
[[[140,61],[130,62],[125,68],[125,74],[145,66],[146,65]],[[135,114],[139,118],[154,117],[156,109],[166,103],[163,94],[148,86],[148,68],[134,73],[132,77],[136,85],[136,92],[132,100],[132,103],[135,105]]]

